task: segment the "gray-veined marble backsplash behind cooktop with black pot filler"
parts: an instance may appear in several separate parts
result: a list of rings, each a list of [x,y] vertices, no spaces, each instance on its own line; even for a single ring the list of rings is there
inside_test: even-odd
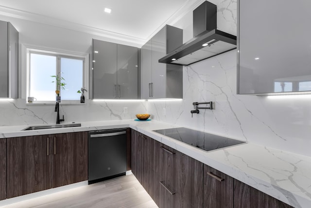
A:
[[[237,95],[236,53],[184,67],[183,99],[148,101],[149,113],[158,121],[311,156],[311,95]],[[191,117],[192,102],[209,101],[213,110]]]

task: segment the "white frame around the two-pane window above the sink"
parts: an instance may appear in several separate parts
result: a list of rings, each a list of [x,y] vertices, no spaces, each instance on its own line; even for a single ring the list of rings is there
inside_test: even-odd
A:
[[[56,49],[49,49],[49,48],[40,48],[36,46],[21,46],[21,98],[25,99],[29,96],[29,86],[30,86],[30,54],[42,54],[42,55],[49,55],[49,56],[55,56],[55,57],[65,57],[65,58],[77,58],[77,59],[83,59],[83,86],[86,88],[87,93],[85,93],[85,99],[89,99],[89,55],[88,54],[78,54],[76,52],[69,52],[69,51],[60,51]],[[24,64],[23,64],[24,63]],[[57,62],[57,70],[59,70],[59,64]],[[55,95],[56,97],[56,95]],[[78,96],[80,97],[80,96]],[[27,103],[29,105],[42,105],[42,104],[51,104],[54,105],[55,101],[36,101],[34,103]],[[61,100],[60,104],[84,104],[80,103],[80,99],[78,100]]]

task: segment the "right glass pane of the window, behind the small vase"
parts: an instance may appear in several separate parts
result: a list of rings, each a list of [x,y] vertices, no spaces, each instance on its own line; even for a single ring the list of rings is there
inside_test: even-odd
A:
[[[77,91],[83,87],[83,60],[62,57],[60,65],[66,83],[66,90],[61,90],[62,99],[80,100]]]

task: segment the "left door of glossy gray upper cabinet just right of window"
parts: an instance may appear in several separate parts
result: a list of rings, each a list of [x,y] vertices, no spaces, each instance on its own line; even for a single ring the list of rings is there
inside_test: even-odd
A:
[[[117,98],[117,44],[93,39],[93,98]]]

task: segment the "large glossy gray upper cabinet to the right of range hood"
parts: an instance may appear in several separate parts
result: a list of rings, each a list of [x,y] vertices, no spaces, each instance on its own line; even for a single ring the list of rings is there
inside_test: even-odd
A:
[[[311,1],[238,2],[238,94],[311,93]]]

